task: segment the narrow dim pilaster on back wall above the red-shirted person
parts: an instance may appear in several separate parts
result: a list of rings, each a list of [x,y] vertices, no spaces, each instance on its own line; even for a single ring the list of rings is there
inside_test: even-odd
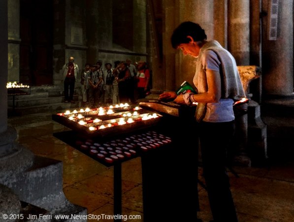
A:
[[[133,1],[133,51],[146,53],[146,0]]]

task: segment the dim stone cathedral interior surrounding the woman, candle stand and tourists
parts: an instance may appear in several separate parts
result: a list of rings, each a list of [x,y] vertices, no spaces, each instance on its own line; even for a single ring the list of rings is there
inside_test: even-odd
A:
[[[62,69],[71,56],[80,70],[98,61],[102,66],[145,61],[152,73],[150,100],[184,80],[193,82],[196,59],[170,43],[184,21],[200,24],[208,39],[233,55],[249,99],[246,113],[236,118],[237,154],[228,169],[239,221],[293,221],[292,0],[1,0],[0,17],[0,221],[54,221],[56,215],[89,222],[101,215],[109,216],[105,222],[169,221],[180,215],[212,220],[201,153],[194,184],[198,201],[190,206],[192,194],[189,201],[174,201],[179,190],[171,190],[154,203],[163,206],[155,211],[162,214],[158,217],[144,206],[151,195],[143,191],[143,168],[151,165],[143,163],[145,157],[120,168],[103,165],[58,138],[68,125],[52,120],[82,108],[81,73],[75,102],[64,103]],[[30,93],[9,95],[7,82],[29,85]],[[172,161],[171,187],[193,181],[195,175],[181,163]],[[168,201],[171,208],[164,207]],[[134,217],[110,217],[116,214]]]

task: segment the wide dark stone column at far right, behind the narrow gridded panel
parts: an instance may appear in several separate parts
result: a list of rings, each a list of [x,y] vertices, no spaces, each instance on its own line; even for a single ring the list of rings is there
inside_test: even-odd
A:
[[[293,95],[293,1],[280,0],[277,39],[268,40],[269,0],[262,1],[262,85],[266,95]]]

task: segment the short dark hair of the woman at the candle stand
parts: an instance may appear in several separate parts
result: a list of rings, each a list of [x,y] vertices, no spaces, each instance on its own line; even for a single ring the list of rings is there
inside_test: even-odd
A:
[[[202,41],[207,38],[204,29],[194,22],[183,22],[174,31],[171,36],[171,45],[173,48],[177,48],[182,43],[189,43],[191,36],[194,41]]]

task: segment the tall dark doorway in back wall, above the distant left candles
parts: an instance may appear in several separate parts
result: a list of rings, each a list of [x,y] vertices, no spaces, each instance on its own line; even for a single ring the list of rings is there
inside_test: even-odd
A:
[[[52,85],[52,0],[20,0],[20,38],[20,82]]]

